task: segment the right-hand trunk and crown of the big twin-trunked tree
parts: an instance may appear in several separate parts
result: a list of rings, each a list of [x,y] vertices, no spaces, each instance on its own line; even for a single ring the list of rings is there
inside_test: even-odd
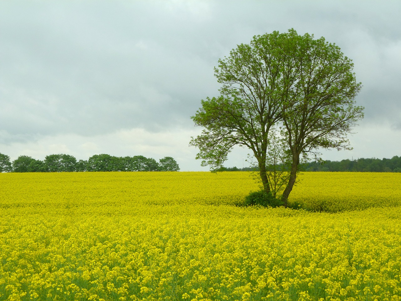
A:
[[[294,45],[291,68],[286,68],[292,82],[288,97],[282,102],[282,122],[286,128],[288,147],[292,155],[290,179],[283,193],[286,204],[296,181],[296,171],[302,154],[318,155],[318,148],[352,149],[348,133],[363,118],[363,107],[355,106],[360,91],[353,73],[353,63],[344,57],[340,47],[323,37],[288,36]]]

